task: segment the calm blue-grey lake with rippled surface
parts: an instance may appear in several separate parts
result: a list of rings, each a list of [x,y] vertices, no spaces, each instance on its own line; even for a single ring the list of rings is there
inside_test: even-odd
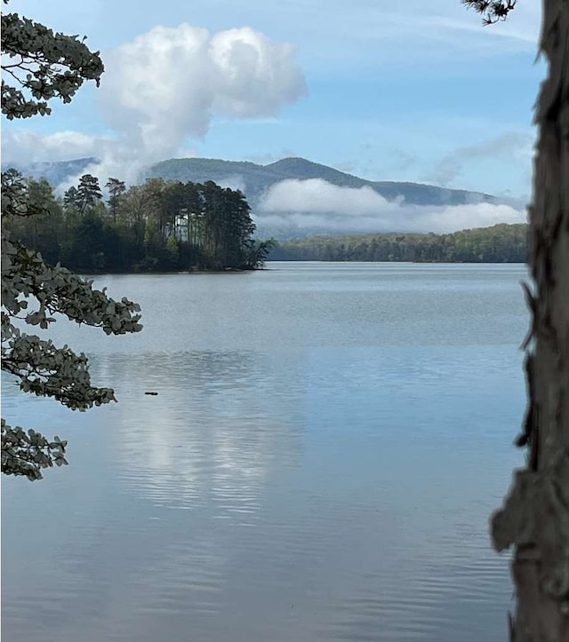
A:
[[[97,277],[142,332],[52,337],[119,402],[3,379],[9,423],[69,440],[68,466],[3,480],[4,640],[507,639],[487,524],[522,462],[525,273]]]

